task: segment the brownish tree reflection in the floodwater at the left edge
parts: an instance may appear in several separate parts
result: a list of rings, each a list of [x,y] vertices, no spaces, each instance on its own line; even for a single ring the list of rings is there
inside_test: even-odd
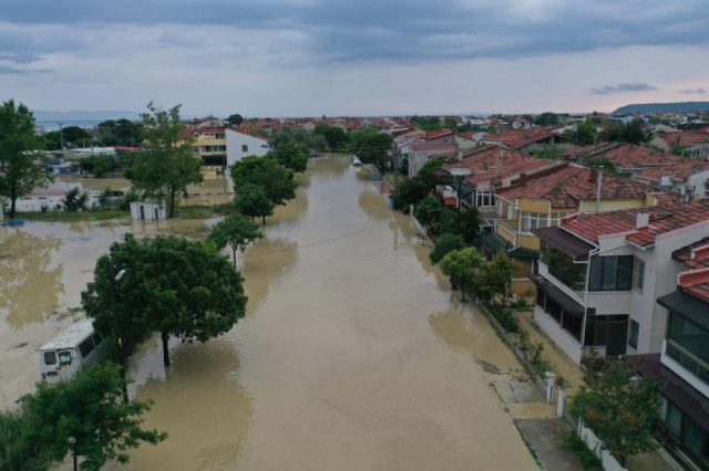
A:
[[[62,268],[51,268],[51,252],[62,241],[39,238],[21,229],[2,229],[0,233],[0,315],[12,328],[41,323],[56,308],[64,287]]]

